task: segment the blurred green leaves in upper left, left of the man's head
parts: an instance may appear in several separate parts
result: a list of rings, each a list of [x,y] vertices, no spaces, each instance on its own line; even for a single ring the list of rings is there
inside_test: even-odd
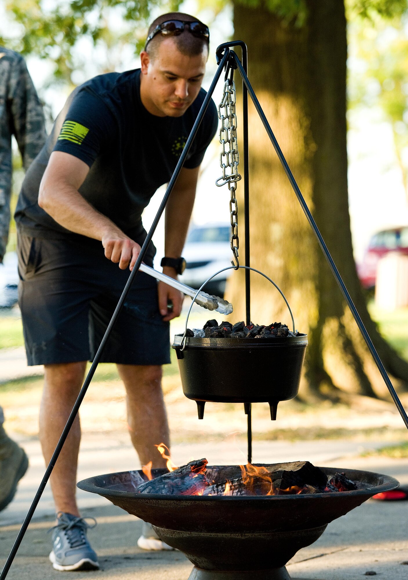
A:
[[[54,81],[72,82],[71,73],[78,67],[74,47],[83,38],[110,52],[132,45],[134,52],[143,48],[152,12],[177,10],[179,0],[65,0],[46,3],[42,0],[8,0],[6,11],[21,25],[17,38],[0,38],[0,44],[24,56],[35,54],[55,64]],[[86,56],[86,55],[81,55]]]

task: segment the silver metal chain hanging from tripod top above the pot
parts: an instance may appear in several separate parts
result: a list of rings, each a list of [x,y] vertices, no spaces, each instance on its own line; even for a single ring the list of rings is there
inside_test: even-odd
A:
[[[231,250],[234,254],[234,260],[231,261],[235,270],[239,268],[238,260],[238,202],[236,201],[235,191],[236,182],[239,182],[241,175],[238,173],[239,153],[238,141],[236,138],[236,114],[235,114],[236,92],[235,83],[228,79],[224,84],[223,99],[218,105],[218,118],[221,120],[220,143],[222,150],[220,153],[220,166],[223,175],[216,181],[217,187],[228,183],[231,199],[229,200],[229,214],[231,216]]]

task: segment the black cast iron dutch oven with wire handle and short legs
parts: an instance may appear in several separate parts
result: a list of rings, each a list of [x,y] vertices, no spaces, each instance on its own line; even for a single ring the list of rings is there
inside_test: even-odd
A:
[[[292,316],[275,282],[258,273],[279,290]],[[186,329],[187,324],[188,316]],[[267,402],[274,419],[278,402],[298,393],[307,343],[306,334],[287,338],[190,338],[184,332],[174,336],[173,349],[186,397],[198,402]],[[200,415],[203,405],[198,407]]]

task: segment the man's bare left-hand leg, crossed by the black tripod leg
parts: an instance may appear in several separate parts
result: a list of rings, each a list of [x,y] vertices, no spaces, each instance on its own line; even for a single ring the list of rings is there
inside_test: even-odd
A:
[[[39,413],[39,438],[46,465],[74,407],[85,375],[86,361],[44,366],[44,389]],[[75,418],[50,477],[56,512],[79,516],[75,492],[81,426]]]

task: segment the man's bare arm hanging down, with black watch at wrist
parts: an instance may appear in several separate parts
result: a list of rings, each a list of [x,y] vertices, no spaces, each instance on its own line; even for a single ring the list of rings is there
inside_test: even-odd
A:
[[[194,205],[198,173],[199,167],[181,169],[167,202],[165,213],[165,256],[167,258],[180,258],[181,252],[183,252]],[[170,266],[163,267],[163,273],[177,278],[176,270]],[[159,309],[164,317],[163,320],[172,320],[172,318],[180,316],[184,299],[183,293],[164,284],[164,282],[159,282],[158,292]],[[170,313],[167,311],[167,302],[173,304],[173,310]]]

